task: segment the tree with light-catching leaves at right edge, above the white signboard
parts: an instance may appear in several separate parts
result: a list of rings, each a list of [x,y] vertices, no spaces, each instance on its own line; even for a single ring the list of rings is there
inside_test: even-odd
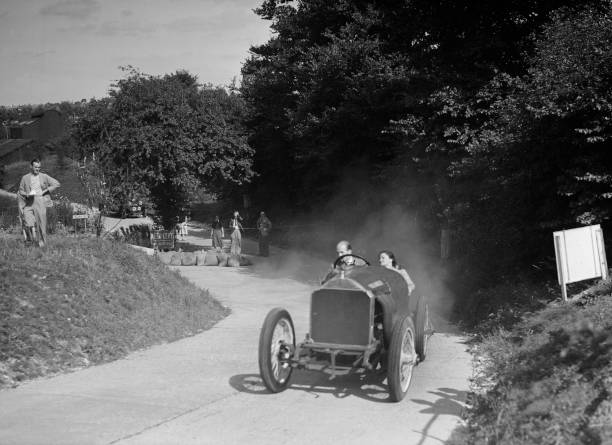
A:
[[[560,10],[525,75],[499,74],[446,109],[474,122],[449,129],[463,151],[445,202],[484,275],[552,256],[552,230],[610,220],[611,25],[610,10]]]

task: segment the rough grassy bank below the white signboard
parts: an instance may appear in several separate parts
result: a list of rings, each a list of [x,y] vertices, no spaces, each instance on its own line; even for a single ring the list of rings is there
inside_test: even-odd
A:
[[[468,428],[453,443],[612,443],[611,293],[608,280],[484,335]]]

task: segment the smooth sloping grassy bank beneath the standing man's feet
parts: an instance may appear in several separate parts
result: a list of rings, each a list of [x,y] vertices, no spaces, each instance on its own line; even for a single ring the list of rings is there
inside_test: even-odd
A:
[[[0,387],[210,328],[228,314],[152,257],[95,238],[0,238]]]

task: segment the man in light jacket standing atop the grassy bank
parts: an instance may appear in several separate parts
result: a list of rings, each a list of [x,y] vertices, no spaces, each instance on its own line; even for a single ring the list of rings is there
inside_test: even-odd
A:
[[[58,188],[60,183],[41,173],[40,167],[40,159],[32,159],[32,172],[21,178],[17,195],[28,235],[33,241],[38,240],[38,245],[42,247],[47,242],[47,207],[53,205],[50,192]]]

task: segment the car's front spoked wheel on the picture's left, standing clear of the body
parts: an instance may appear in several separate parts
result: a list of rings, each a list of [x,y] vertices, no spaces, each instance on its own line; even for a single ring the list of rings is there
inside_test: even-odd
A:
[[[289,312],[272,309],[259,334],[259,373],[269,391],[281,392],[289,385],[294,350],[295,330]]]

